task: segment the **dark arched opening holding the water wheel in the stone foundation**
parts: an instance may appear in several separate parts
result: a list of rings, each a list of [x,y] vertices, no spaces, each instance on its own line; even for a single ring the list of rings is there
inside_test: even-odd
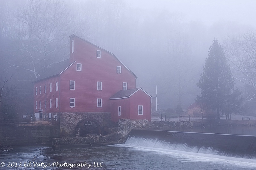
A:
[[[76,124],[76,137],[86,137],[87,135],[103,135],[103,127],[99,121],[86,118]]]

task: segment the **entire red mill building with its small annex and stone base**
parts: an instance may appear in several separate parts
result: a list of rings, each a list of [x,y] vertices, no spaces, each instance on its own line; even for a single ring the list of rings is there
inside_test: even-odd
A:
[[[120,118],[150,121],[151,96],[136,88],[136,75],[107,50],[69,38],[70,59],[34,81],[35,118],[59,121],[68,137],[106,134]]]

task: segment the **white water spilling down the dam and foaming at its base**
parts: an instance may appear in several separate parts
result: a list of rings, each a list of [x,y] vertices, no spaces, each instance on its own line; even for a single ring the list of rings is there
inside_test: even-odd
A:
[[[178,157],[183,162],[218,162],[229,166],[255,167],[256,159],[229,157],[227,153],[221,153],[212,147],[193,147],[188,144],[177,144],[143,137],[129,137],[122,147],[130,147],[136,150],[146,150],[156,154],[166,154]],[[234,156],[234,155],[232,155]]]

